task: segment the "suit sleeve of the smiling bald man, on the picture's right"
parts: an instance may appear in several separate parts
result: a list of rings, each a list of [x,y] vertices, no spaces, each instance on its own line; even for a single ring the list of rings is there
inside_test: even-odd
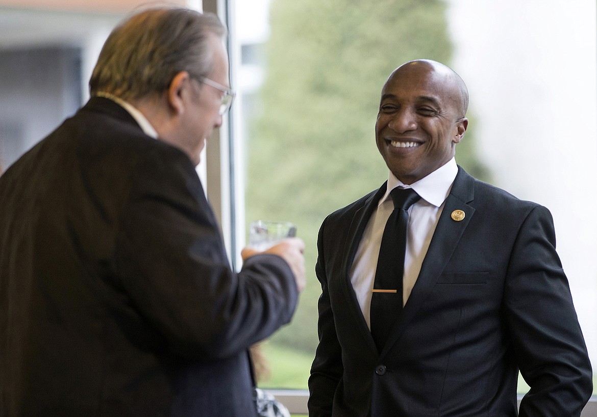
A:
[[[592,370],[547,208],[525,219],[504,290],[510,337],[531,387],[521,417],[579,416],[592,393]]]

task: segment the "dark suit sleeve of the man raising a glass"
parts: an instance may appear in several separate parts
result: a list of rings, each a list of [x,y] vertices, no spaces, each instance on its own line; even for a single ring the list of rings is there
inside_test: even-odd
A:
[[[298,290],[278,256],[251,257],[233,272],[201,183],[184,158],[158,155],[139,167],[119,220],[118,284],[168,350],[227,357],[290,322]]]

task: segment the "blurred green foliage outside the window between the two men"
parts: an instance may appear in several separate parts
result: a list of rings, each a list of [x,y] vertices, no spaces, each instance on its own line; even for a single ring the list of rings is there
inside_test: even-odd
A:
[[[441,0],[272,0],[247,142],[247,220],[290,220],[307,245],[307,289],[276,343],[315,353],[319,225],[387,179],[374,130],[381,88],[406,61],[450,63],[445,8]],[[468,151],[457,151],[465,167],[474,160],[467,142],[469,132]]]

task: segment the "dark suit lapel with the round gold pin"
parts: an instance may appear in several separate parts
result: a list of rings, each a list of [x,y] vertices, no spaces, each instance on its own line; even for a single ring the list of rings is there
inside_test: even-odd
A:
[[[466,229],[466,226],[475,213],[475,208],[468,204],[473,200],[474,182],[475,179],[472,176],[464,172],[461,167],[458,167],[458,174],[454,180],[450,194],[445,201],[444,209],[439,217],[438,225],[435,228],[429,249],[421,265],[417,282],[413,287],[410,297],[408,297],[402,314],[399,316],[389,335],[389,341],[386,343],[381,353],[382,355],[386,354],[402,335],[405,327],[413,319],[413,316],[433,290],[439,276],[441,276],[446,264],[450,260],[458,241],[460,241],[464,229]],[[460,221],[454,220],[452,213],[455,210],[464,211],[464,219]]]

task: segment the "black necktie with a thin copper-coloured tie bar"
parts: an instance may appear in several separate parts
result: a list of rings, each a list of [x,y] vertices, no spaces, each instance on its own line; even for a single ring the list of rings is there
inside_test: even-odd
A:
[[[402,310],[404,253],[407,247],[408,208],[421,197],[412,188],[390,192],[394,211],[387,219],[381,238],[377,272],[371,294],[371,334],[381,352]]]

